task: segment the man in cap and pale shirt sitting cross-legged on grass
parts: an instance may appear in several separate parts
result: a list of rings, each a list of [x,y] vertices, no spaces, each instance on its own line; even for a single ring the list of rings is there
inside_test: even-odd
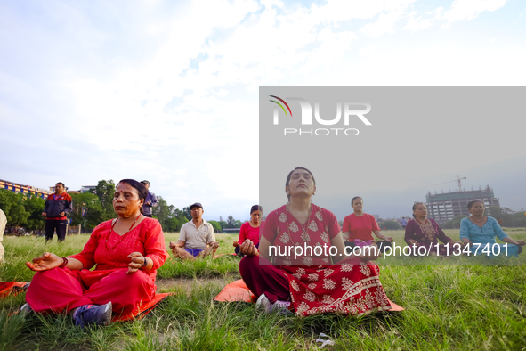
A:
[[[177,243],[170,241],[170,249],[175,257],[196,259],[215,254],[219,242],[215,241],[212,224],[201,217],[203,212],[203,206],[198,202],[190,206],[192,220],[182,224]]]

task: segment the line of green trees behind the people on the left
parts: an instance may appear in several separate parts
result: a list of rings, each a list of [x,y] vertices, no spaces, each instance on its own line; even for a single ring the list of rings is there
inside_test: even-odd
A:
[[[113,180],[101,180],[92,192],[69,192],[73,201],[73,211],[69,214],[70,225],[82,225],[85,231],[91,231],[104,221],[115,218],[113,211],[113,195],[115,183]],[[175,208],[169,205],[162,196],[157,196],[158,206],[152,208],[152,216],[157,218],[165,232],[179,232],[182,224],[191,220],[190,208]],[[0,189],[0,208],[7,217],[9,233],[17,228],[29,232],[43,232],[45,217],[42,216],[45,199],[36,194],[15,193]],[[214,226],[215,232],[226,228],[240,228],[243,222],[228,216],[227,221],[207,221]]]

